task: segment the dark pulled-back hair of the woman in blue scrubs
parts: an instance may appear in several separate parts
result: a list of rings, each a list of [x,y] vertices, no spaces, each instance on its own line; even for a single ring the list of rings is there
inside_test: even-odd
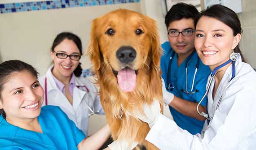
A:
[[[38,72],[30,64],[26,64],[20,60],[9,60],[4,61],[0,64],[0,100],[2,100],[2,91],[4,89],[4,84],[9,81],[9,78],[14,72],[28,71],[36,78],[38,77]],[[0,114],[6,117],[3,109],[0,109]]]

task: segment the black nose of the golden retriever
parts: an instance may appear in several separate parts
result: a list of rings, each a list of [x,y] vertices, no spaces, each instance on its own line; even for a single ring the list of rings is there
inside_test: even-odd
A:
[[[132,62],[136,58],[136,51],[133,47],[120,47],[116,52],[116,57],[125,64]]]

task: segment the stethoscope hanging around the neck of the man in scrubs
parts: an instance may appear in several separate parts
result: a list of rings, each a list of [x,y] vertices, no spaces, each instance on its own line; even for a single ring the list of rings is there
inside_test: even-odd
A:
[[[186,94],[194,94],[196,92],[198,92],[199,90],[194,90],[194,80],[195,80],[195,76],[199,67],[199,56],[197,56],[197,64],[195,65],[195,71],[194,71],[194,77],[193,77],[193,81],[192,81],[192,86],[191,86],[191,90],[188,91],[187,90],[187,85],[188,85],[188,64],[190,63],[190,59],[191,57],[194,55],[195,50],[190,54],[190,56],[188,56],[186,64],[185,64],[185,70],[186,70],[186,89],[182,89],[182,91]],[[168,83],[168,90],[172,91],[174,89],[174,86],[172,85],[171,82],[171,69],[172,69],[172,58],[175,55],[175,51],[173,51],[172,56],[170,57],[169,60],[169,65],[168,65],[168,73],[167,73],[167,83]]]

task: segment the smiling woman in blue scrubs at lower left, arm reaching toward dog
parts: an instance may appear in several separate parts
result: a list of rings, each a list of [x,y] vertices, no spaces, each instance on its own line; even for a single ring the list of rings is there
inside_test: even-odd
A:
[[[37,74],[19,60],[0,64],[0,150],[98,150],[109,126],[86,138],[59,107],[41,108]]]

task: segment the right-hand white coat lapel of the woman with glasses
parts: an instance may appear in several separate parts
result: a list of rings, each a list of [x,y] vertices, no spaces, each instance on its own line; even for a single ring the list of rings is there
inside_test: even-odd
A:
[[[84,86],[84,84],[81,83],[77,77],[75,77],[75,88],[73,90],[73,108],[75,111],[78,109],[84,95],[87,93],[87,91],[80,90],[77,86]]]

